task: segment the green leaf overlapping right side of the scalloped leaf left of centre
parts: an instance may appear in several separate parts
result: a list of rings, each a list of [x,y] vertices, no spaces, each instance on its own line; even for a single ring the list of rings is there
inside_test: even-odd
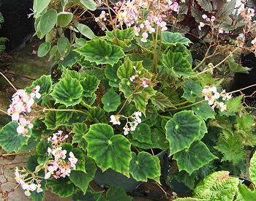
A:
[[[91,97],[99,86],[99,79],[92,75],[84,75],[83,81],[80,81],[81,86],[83,87],[83,96]]]

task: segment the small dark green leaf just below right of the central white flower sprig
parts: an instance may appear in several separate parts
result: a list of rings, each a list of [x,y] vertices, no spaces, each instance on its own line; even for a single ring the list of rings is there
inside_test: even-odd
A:
[[[132,139],[137,140],[140,143],[151,144],[151,130],[148,124],[141,123],[137,126],[134,132],[131,132]]]

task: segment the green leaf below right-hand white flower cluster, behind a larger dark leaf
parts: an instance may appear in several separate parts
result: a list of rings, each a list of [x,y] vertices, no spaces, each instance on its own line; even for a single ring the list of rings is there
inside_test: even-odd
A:
[[[197,114],[199,118],[205,120],[208,118],[215,118],[215,112],[211,109],[211,106],[208,105],[208,102],[201,102],[192,107],[192,110]]]

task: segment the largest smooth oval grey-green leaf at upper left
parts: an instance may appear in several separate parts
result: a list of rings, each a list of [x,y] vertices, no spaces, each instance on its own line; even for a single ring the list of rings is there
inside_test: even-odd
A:
[[[56,10],[48,10],[44,15],[41,16],[39,22],[39,30],[42,35],[48,34],[57,22],[57,12]]]

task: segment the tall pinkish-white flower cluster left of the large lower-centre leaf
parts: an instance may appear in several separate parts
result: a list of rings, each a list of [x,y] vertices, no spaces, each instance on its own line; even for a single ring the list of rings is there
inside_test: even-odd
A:
[[[54,178],[65,178],[69,176],[71,170],[75,170],[75,164],[78,163],[78,159],[75,158],[72,151],[69,152],[67,158],[67,150],[62,150],[61,143],[66,140],[68,135],[62,136],[62,132],[59,131],[48,138],[53,145],[52,148],[48,148],[48,156],[52,156],[53,160],[45,162],[45,179],[50,178],[53,175]]]

